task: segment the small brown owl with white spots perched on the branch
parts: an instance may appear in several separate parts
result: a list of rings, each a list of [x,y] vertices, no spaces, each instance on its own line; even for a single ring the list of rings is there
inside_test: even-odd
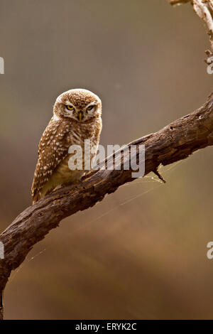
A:
[[[50,119],[38,145],[38,162],[32,185],[33,204],[60,185],[76,183],[85,173],[82,169],[71,170],[70,146],[82,148],[89,139],[94,148],[99,144],[102,131],[102,102],[97,95],[84,89],[68,90],[56,99],[53,117]],[[88,142],[88,141],[87,141]],[[89,153],[94,158],[97,149]]]

